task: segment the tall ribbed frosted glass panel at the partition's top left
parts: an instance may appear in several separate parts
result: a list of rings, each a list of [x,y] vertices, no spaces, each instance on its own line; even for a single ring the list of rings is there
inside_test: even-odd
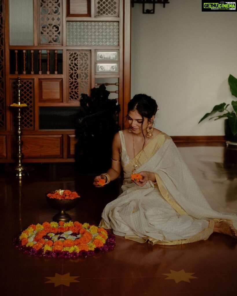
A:
[[[9,44],[34,45],[33,0],[9,0]]]

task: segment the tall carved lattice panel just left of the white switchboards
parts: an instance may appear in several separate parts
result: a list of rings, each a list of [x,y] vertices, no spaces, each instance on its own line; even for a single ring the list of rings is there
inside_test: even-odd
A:
[[[79,101],[90,91],[90,51],[68,51],[68,101]]]

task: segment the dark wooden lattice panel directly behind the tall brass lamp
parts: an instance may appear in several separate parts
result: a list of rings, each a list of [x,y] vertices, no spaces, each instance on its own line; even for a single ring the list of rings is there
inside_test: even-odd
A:
[[[18,102],[17,79],[11,79],[11,103]],[[22,110],[21,128],[22,130],[34,130],[34,81],[33,79],[21,79],[22,84],[20,102],[31,107]],[[11,130],[17,126],[16,113],[11,112]]]

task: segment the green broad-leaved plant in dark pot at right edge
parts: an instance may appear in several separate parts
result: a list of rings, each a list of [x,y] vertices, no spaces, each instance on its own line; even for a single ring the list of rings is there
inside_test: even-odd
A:
[[[235,97],[237,97],[237,79],[230,75],[228,78],[228,83],[230,86],[231,94]],[[232,101],[231,106],[232,110],[228,110],[227,108],[230,106],[230,104],[222,103],[220,105],[214,106],[212,111],[210,113],[206,113],[203,118],[198,122],[200,123],[204,119],[206,119],[209,116],[214,115],[216,112],[222,113],[221,115],[216,115],[214,117],[209,118],[214,120],[220,119],[220,118],[226,118],[225,120],[225,136],[228,141],[237,142],[237,101]]]

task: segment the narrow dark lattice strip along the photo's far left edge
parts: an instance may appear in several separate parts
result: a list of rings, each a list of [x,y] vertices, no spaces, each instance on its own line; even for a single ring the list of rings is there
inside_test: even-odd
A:
[[[4,83],[4,14],[0,0],[0,130],[5,130],[5,83]]]

